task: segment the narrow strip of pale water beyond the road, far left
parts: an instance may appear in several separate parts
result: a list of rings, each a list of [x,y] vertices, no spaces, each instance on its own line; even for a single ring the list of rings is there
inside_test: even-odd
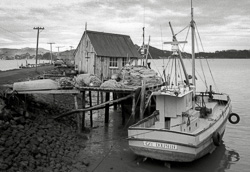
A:
[[[49,63],[50,60],[37,60],[37,64],[39,63]],[[11,69],[18,69],[19,66],[27,64],[36,64],[35,59],[28,59],[28,60],[0,60],[0,71],[11,70]]]

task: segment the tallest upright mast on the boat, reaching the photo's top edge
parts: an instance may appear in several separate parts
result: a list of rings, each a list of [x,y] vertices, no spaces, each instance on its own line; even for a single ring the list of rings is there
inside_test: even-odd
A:
[[[195,95],[195,43],[194,43],[194,33],[195,33],[195,27],[194,27],[194,19],[193,19],[193,1],[191,0],[191,33],[192,33],[192,83],[194,86],[194,95]]]

